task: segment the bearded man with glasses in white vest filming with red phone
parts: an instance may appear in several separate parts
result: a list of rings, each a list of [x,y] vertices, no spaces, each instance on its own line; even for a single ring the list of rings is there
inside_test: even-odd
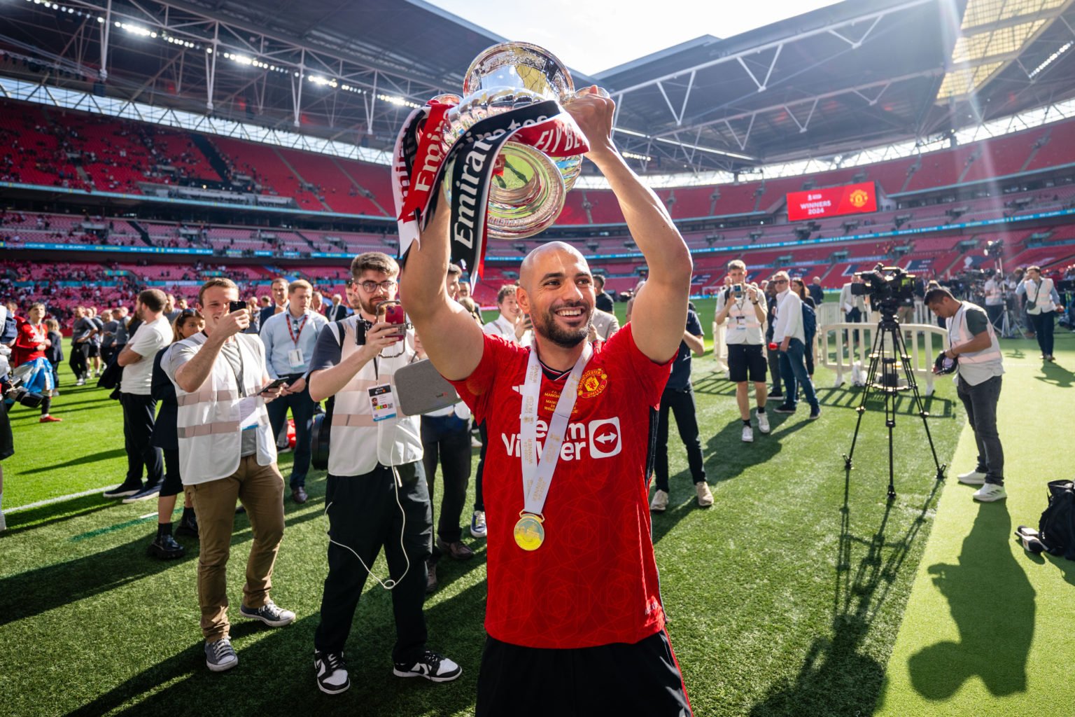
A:
[[[350,273],[356,312],[321,331],[309,375],[315,401],[335,397],[325,488],[329,574],[314,634],[317,687],[327,694],[350,687],[344,647],[362,586],[382,547],[391,580],[381,585],[392,591],[396,617],[393,674],[448,682],[462,672],[426,647],[422,602],[432,507],[419,420],[397,416],[391,396],[392,375],[415,358],[414,333],[401,333],[399,324],[387,322],[379,306],[396,299],[399,264],[386,254],[369,252],[355,257]],[[435,285],[444,290],[445,273]]]

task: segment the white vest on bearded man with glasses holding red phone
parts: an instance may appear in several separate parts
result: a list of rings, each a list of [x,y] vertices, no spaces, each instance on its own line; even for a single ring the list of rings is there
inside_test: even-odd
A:
[[[354,315],[327,327],[338,338],[338,331],[343,330],[341,361],[360,348],[355,343],[358,319]],[[418,416],[397,416],[374,421],[373,404],[370,401],[371,388],[391,383],[396,371],[414,359],[412,331],[407,331],[405,341],[402,354],[392,358],[378,356],[369,361],[335,395],[329,439],[329,473],[332,475],[362,475],[376,468],[377,463],[404,465],[421,460],[421,422]],[[397,344],[389,346],[384,353],[391,355],[399,350]]]

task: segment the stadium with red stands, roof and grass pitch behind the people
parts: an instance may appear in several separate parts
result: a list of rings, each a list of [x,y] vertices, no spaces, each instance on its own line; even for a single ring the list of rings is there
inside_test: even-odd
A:
[[[213,278],[234,281],[246,300],[285,277],[326,303],[348,296],[356,255],[399,249],[401,125],[458,94],[475,56],[505,40],[526,38],[421,0],[3,0],[3,301],[20,315],[44,304],[70,356],[76,307],[133,309],[143,289],[192,306]],[[1031,554],[1013,533],[1037,527],[1048,482],[1072,478],[1062,456],[1075,377],[1073,51],[1071,0],[845,0],[592,75],[572,70],[576,87],[615,101],[616,146],[693,261],[706,353],[691,382],[714,502],[699,507],[673,434],[671,503],[651,516],[693,714],[1071,712],[1075,637],[1050,618],[1067,614],[1075,563]],[[481,275],[467,278],[489,320],[524,257],[567,242],[604,278],[622,325],[648,275],[639,239],[584,162],[554,226],[491,240]],[[783,271],[817,277],[825,296],[813,346],[823,416],[775,416],[752,443],[741,440],[714,341],[733,260],[748,283]],[[986,281],[1016,268],[1040,267],[1057,287],[1055,361],[1038,359],[1046,352],[1015,304],[998,326],[1007,500],[975,502],[956,481],[978,447],[956,386],[929,370],[949,344],[921,292],[907,341],[926,415],[901,393],[887,432],[882,401],[859,385],[878,316],[848,339],[840,297],[878,263],[981,304]],[[285,500],[273,574],[296,621],[236,619],[242,664],[206,672],[198,541],[180,539],[181,559],[146,556],[154,501],[101,494],[127,465],[120,407],[96,377],[76,385],[66,360],[57,368],[62,422],[9,407],[0,714],[474,714],[485,540],[464,534],[474,558],[441,560],[425,602],[430,644],[461,677],[388,674],[392,597],[368,580],[347,646],[352,687],[328,698],[311,668],[328,546],[326,474],[313,470],[309,502]],[[936,479],[933,447],[947,479]],[[283,473],[292,460],[281,455]],[[472,475],[468,506],[474,490]],[[233,607],[253,533],[236,515]],[[383,556],[372,568],[388,572]]]

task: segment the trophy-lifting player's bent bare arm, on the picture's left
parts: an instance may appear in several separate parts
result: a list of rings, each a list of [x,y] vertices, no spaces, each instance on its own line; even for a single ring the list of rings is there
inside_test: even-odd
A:
[[[458,381],[474,373],[485,339],[474,317],[448,298],[448,206],[441,199],[421,241],[411,245],[400,276],[400,299],[421,345],[445,378]]]

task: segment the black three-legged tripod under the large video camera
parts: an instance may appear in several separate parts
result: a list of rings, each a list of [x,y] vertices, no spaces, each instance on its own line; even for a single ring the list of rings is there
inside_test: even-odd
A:
[[[891,346],[891,350],[887,348]],[[903,377],[906,386],[900,385],[900,371],[898,364],[903,368]],[[862,388],[862,402],[856,411],[859,414],[855,424],[855,435],[851,438],[850,453],[844,455],[844,468],[851,470],[851,458],[855,456],[855,444],[859,440],[859,428],[862,426],[862,415],[866,412],[866,401],[870,393],[880,393],[885,399],[885,426],[888,427],[888,499],[895,498],[895,484],[892,476],[892,431],[895,429],[895,401],[900,391],[909,390],[915,398],[915,405],[918,415],[922,418],[922,428],[926,429],[926,438],[930,442],[930,453],[933,454],[933,464],[937,469],[936,479],[944,481],[945,465],[937,460],[937,451],[933,445],[933,436],[930,434],[930,426],[926,421],[929,413],[922,405],[921,393],[918,392],[918,384],[915,383],[915,374],[911,370],[911,357],[907,356],[906,344],[903,341],[903,332],[900,330],[900,322],[895,320],[893,311],[882,309],[882,318],[877,322],[877,332],[874,334],[873,348],[870,352],[870,371],[866,374],[866,383]]]

